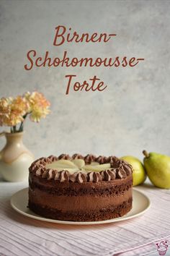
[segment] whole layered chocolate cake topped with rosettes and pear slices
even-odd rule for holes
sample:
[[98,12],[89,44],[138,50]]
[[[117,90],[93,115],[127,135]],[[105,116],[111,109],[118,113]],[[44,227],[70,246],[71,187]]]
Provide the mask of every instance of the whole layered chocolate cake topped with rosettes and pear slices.
[[62,154],[29,168],[28,207],[61,221],[104,221],[132,208],[132,166],[115,156]]

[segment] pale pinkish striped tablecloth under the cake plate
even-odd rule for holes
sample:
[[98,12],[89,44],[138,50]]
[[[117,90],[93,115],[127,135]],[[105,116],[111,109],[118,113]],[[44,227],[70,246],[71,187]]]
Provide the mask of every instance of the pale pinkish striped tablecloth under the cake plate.
[[27,218],[15,212],[10,197],[27,182],[0,180],[0,255],[156,256],[156,242],[166,239],[170,255],[170,190],[150,182],[136,187],[148,195],[151,208],[121,223],[69,226]]

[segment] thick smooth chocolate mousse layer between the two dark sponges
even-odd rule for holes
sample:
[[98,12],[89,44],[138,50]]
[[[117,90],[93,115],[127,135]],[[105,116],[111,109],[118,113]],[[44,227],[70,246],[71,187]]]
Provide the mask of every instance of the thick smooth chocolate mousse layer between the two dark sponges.
[[40,189],[30,189],[29,198],[32,203],[42,205],[42,207],[48,207],[58,209],[62,211],[79,211],[81,213],[86,212],[86,206],[88,210],[99,210],[101,208],[107,208],[109,206],[121,205],[123,202],[128,201],[132,197],[132,189],[128,189],[125,192],[120,192],[119,195],[104,195],[97,192],[96,195],[79,195],[79,196],[67,196],[67,195],[52,195]]

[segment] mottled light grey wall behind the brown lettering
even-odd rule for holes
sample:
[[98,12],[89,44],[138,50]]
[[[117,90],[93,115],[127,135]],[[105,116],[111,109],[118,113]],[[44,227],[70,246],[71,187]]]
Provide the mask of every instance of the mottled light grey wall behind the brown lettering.
[[[40,90],[51,114],[40,124],[27,120],[24,143],[36,157],[60,153],[170,155],[170,1],[1,1],[0,95]],[[117,33],[109,43],[53,46],[55,27],[79,33]],[[135,68],[37,68],[24,70],[26,54],[50,51],[73,57],[137,56]],[[96,74],[102,93],[65,95],[66,74],[86,80]],[[3,130],[3,128],[1,128]],[[4,139],[0,140],[0,147]]]

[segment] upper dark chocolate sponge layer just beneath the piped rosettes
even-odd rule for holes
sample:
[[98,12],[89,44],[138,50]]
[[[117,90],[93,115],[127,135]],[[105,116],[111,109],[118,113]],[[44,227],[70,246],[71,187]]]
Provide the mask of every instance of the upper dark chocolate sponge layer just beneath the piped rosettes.
[[42,179],[41,177],[30,175],[29,187],[31,189],[40,189],[53,195],[118,195],[122,191],[132,187],[132,176],[125,179],[115,179],[109,182],[58,182],[54,180]]

